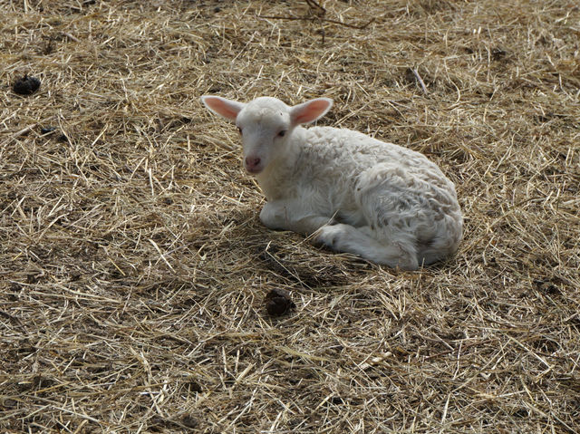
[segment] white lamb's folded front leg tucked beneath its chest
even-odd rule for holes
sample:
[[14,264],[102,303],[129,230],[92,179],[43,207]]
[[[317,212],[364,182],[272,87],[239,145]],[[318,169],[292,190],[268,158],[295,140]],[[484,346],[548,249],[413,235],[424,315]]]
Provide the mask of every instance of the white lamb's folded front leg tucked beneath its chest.
[[270,229],[291,230],[305,236],[333,223],[333,217],[316,215],[300,202],[288,200],[266,202],[260,212],[260,220]]

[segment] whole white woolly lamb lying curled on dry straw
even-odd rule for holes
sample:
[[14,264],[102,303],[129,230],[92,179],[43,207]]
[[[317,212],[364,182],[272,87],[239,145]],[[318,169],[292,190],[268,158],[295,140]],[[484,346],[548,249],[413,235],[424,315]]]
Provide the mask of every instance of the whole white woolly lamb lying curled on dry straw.
[[236,122],[244,167],[266,195],[266,227],[402,270],[457,250],[463,218],[453,183],[419,152],[353,130],[302,126],[324,116],[332,100],[201,101]]

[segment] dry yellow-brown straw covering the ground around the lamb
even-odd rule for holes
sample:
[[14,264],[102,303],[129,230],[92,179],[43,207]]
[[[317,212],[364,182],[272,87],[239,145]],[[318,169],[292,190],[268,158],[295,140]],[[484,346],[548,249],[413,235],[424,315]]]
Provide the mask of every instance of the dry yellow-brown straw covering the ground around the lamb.
[[[575,3],[3,1],[0,430],[580,431]],[[329,96],[322,123],[426,153],[459,254],[266,230],[204,93]]]

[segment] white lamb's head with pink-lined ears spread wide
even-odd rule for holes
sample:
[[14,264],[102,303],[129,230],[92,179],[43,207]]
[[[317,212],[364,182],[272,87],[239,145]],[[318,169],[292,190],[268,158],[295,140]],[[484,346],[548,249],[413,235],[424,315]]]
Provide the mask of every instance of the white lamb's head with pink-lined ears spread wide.
[[283,158],[295,127],[314,122],[333,105],[327,98],[306,101],[294,107],[270,97],[242,103],[218,96],[203,96],[210,111],[235,121],[244,143],[244,167],[257,175]]

